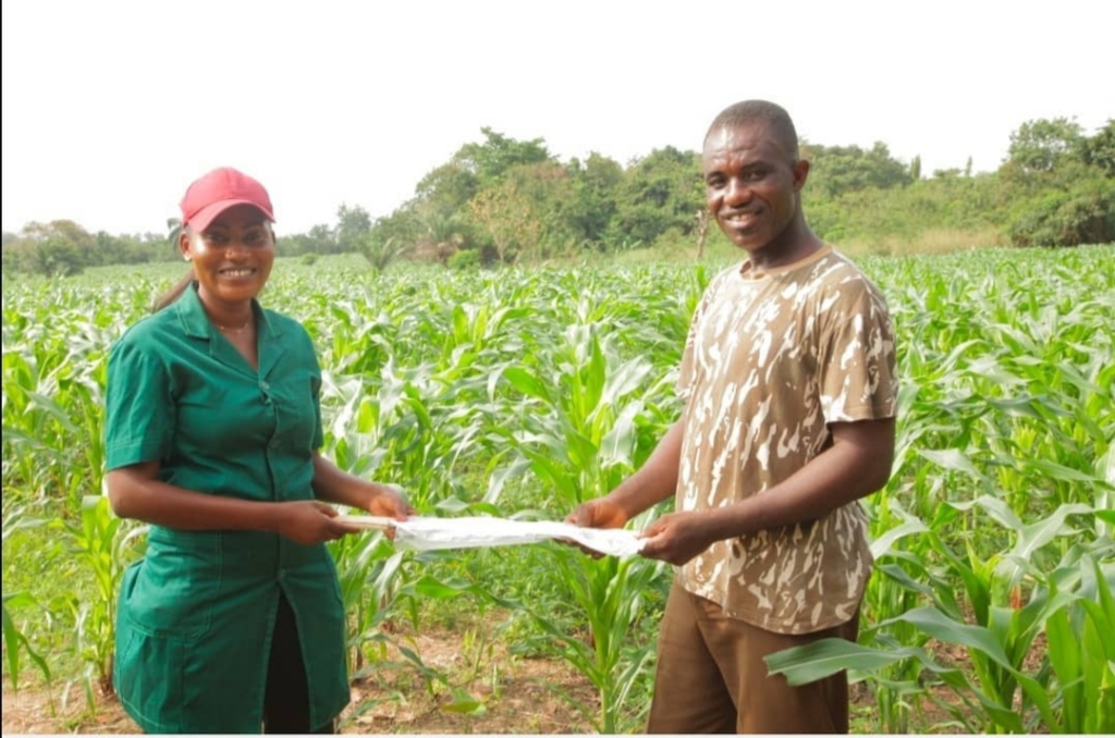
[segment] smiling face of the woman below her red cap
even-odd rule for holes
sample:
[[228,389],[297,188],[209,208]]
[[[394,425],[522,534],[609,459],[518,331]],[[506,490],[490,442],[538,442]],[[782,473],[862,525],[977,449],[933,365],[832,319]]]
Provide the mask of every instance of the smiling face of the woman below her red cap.
[[233,205],[202,233],[185,229],[178,247],[194,263],[202,301],[213,307],[251,301],[266,284],[275,259],[271,224],[252,205]]

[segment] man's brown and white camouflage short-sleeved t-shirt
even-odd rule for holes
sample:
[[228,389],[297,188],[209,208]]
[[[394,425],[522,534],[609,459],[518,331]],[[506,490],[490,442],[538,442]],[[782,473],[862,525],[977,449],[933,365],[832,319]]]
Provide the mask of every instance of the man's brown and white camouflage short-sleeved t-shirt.
[[[758,275],[749,262],[725,270],[694,317],[678,392],[677,509],[764,494],[832,445],[828,424],[894,416],[886,303],[831,246]],[[731,618],[808,633],[853,616],[871,564],[856,502],[812,523],[718,541],[678,576]]]

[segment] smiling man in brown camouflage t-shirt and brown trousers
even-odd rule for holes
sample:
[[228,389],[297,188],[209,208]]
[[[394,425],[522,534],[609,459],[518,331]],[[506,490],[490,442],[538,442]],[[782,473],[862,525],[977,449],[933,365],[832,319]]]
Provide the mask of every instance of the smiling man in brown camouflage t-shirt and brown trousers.
[[871,570],[856,502],[894,454],[894,340],[879,290],[806,223],[786,111],[749,100],[705,138],[708,207],[746,260],[702,297],[685,411],[647,464],[571,522],[621,526],[675,495],[642,555],[679,569],[648,732],[846,732],[841,673],[804,687],[764,657],[856,638]]

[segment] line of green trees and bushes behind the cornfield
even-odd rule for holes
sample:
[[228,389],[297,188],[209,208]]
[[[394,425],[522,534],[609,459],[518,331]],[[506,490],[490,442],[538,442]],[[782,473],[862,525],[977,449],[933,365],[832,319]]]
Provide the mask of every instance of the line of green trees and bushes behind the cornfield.
[[[482,128],[418,182],[392,213],[342,204],[336,222],[279,239],[280,255],[362,253],[374,269],[398,259],[449,266],[536,263],[702,240],[700,154],[672,146],[626,165],[600,154],[560,161],[545,140]],[[932,230],[989,231],[1019,246],[1115,241],[1115,119],[1088,135],[1067,118],[1010,135],[995,172],[921,171],[878,142],[870,148],[803,142],[812,163],[804,198],[823,239],[910,239]],[[177,259],[169,234],[90,234],[72,221],[3,234],[3,266],[48,275],[86,266]],[[710,231],[715,232],[715,229]],[[714,236],[715,237],[715,233]]]

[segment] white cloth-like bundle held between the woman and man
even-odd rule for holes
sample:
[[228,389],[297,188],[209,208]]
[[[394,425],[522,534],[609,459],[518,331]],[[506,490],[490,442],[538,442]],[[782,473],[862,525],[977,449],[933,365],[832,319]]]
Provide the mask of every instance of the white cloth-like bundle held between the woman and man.
[[358,527],[395,528],[395,544],[413,551],[438,548],[478,548],[551,538],[575,541],[610,556],[633,556],[642,548],[642,538],[623,528],[585,528],[553,521],[511,521],[502,517],[424,517],[405,521],[390,517],[349,515],[342,518]]

